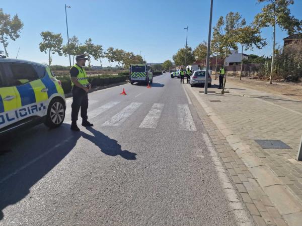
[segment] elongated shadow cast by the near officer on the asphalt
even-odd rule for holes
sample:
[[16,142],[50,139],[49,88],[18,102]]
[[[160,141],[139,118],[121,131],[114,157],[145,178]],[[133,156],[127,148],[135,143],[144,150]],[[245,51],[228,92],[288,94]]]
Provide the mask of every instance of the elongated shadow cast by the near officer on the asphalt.
[[82,137],[93,142],[104,154],[110,156],[120,155],[127,160],[136,160],[136,154],[127,150],[121,150],[121,146],[116,140],[110,139],[108,136],[102,134],[100,131],[97,131],[92,127],[88,127],[87,130],[90,131],[93,136],[82,132]]

